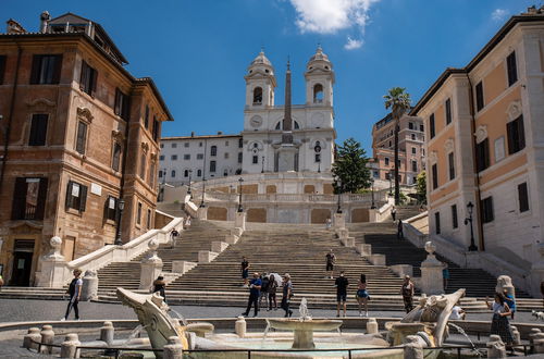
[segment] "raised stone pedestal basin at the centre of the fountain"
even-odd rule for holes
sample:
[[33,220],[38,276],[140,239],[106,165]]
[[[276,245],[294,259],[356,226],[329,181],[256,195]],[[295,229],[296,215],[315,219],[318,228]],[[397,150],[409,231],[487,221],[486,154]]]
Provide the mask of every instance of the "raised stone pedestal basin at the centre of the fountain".
[[270,327],[276,330],[293,331],[294,349],[313,349],[313,332],[336,331],[342,325],[341,320],[296,320],[296,319],[267,319]]

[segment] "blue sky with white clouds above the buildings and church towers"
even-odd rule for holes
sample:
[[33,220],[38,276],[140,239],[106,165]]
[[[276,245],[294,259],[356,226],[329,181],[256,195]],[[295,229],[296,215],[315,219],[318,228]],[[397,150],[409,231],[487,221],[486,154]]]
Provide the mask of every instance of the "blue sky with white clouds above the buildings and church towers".
[[463,66],[511,16],[535,0],[162,0],[8,1],[0,20],[37,30],[39,14],[73,12],[100,23],[135,76],[151,76],[174,119],[163,136],[243,128],[244,74],[264,47],[276,71],[276,104],[290,57],[293,102],[320,42],[334,64],[337,141],[370,156],[382,96],[406,87],[413,103],[447,66]]

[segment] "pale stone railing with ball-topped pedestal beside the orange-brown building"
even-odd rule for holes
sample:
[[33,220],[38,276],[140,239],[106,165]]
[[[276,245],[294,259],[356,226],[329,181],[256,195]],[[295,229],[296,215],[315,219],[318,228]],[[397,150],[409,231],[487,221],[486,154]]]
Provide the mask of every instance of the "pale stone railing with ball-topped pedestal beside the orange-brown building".
[[169,234],[175,228],[183,231],[183,219],[175,218],[160,230],[151,230],[141,236],[122,245],[107,245],[84,257],[66,262],[60,253],[62,239],[52,237],[50,240],[51,251],[41,258],[41,271],[37,275],[39,287],[62,287],[72,277],[72,271],[79,269],[85,271],[97,271],[112,262],[127,262],[149,249],[148,244],[154,239],[159,244],[170,240]]

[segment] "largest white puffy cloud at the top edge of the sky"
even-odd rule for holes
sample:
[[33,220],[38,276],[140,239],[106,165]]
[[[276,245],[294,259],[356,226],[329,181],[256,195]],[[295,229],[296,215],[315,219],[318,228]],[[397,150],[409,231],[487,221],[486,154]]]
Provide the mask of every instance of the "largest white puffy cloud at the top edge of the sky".
[[380,0],[289,1],[298,15],[295,23],[302,33],[334,34],[353,26],[363,33],[370,7]]

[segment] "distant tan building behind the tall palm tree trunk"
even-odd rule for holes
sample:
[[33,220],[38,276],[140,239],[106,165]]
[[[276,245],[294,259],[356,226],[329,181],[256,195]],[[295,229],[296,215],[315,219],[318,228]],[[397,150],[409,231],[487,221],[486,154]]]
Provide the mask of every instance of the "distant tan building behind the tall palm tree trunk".
[[[390,114],[372,126],[372,157],[375,180],[392,181],[395,171],[395,122]],[[398,175],[403,185],[416,184],[416,177],[425,169],[423,120],[408,114],[400,117],[398,132]]]

